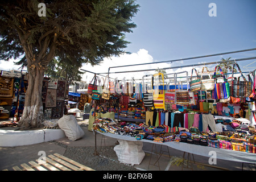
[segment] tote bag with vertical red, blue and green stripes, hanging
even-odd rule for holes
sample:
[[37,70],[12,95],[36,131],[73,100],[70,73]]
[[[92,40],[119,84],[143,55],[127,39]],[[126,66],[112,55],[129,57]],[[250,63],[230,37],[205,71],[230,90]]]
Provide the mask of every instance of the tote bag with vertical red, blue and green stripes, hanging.
[[[224,78],[224,82],[217,83],[217,79],[216,79],[216,70],[217,70],[217,68],[220,69],[221,75]],[[213,78],[215,80],[215,84],[214,84],[214,90],[212,92],[212,98],[213,99],[228,99],[230,97],[229,82],[225,78],[225,76],[224,76],[224,74],[221,70],[221,67],[219,65],[217,65],[215,67]]]

